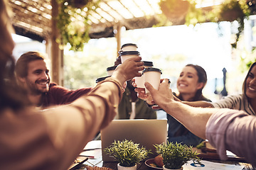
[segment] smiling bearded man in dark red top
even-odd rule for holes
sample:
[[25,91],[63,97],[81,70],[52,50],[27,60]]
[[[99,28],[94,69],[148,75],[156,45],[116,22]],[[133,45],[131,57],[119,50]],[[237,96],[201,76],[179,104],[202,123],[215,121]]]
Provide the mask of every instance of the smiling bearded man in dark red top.
[[45,60],[46,57],[41,52],[26,52],[16,62],[18,84],[27,91],[28,99],[33,106],[46,108],[68,104],[92,89],[70,90],[50,83],[49,69]]

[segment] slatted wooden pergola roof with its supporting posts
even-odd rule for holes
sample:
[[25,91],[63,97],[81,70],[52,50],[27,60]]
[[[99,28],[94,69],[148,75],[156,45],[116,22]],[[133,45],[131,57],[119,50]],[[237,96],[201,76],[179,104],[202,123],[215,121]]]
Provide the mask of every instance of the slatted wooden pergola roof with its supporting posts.
[[[120,48],[120,30],[151,28],[159,22],[160,0],[102,0],[90,16],[90,38],[117,38]],[[198,0],[198,8],[220,4],[224,0]],[[14,11],[13,26],[18,35],[34,40],[46,40],[46,52],[52,63],[52,79],[63,84],[63,52],[55,41],[58,37],[55,18],[58,16],[57,0],[9,0]],[[174,23],[175,25],[182,23]],[[114,30],[115,34],[114,34]],[[53,67],[54,66],[54,67]]]

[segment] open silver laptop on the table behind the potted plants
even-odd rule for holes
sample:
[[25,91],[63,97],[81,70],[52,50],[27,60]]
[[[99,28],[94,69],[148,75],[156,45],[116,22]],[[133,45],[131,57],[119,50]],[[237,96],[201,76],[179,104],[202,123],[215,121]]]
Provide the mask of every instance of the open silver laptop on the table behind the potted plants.
[[110,155],[105,154],[104,149],[112,145],[114,140],[132,140],[139,147],[151,149],[153,154],[149,158],[156,157],[155,144],[166,143],[167,120],[112,120],[110,125],[100,131],[102,141],[102,160],[114,162]]

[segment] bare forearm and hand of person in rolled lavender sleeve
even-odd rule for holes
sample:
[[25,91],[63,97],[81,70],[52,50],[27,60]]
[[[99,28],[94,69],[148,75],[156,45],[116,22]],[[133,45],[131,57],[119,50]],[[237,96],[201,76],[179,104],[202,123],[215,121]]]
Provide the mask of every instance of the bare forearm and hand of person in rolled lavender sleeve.
[[162,81],[159,90],[154,89],[148,82],[145,83],[145,86],[149,89],[154,103],[185,125],[195,135],[206,139],[206,123],[215,109],[194,108],[175,101],[169,90],[168,79]]

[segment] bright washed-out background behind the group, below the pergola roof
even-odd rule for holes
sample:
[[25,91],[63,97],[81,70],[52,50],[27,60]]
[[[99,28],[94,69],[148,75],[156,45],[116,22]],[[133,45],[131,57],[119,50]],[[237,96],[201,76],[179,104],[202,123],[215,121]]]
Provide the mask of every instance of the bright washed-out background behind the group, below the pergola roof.
[[[203,94],[217,101],[224,88],[228,94],[242,92],[242,82],[247,74],[245,64],[256,60],[256,16],[245,19],[244,30],[237,47],[231,44],[237,33],[238,22],[206,22],[193,25],[161,26],[127,30],[121,28],[121,45],[135,43],[142,60],[151,61],[162,70],[161,78],[171,80],[171,88],[177,92],[176,79],[186,64],[198,64],[206,69],[208,82]],[[115,32],[116,30],[113,30]],[[16,59],[24,52],[46,52],[46,41],[39,42],[21,35],[13,35]],[[253,53],[254,52],[254,53]],[[95,86],[95,80],[107,76],[106,69],[117,58],[117,39],[93,38],[84,44],[82,51],[63,47],[63,86],[78,89]],[[224,72],[223,70],[226,70]]]

